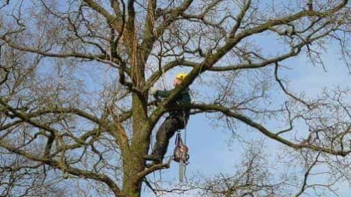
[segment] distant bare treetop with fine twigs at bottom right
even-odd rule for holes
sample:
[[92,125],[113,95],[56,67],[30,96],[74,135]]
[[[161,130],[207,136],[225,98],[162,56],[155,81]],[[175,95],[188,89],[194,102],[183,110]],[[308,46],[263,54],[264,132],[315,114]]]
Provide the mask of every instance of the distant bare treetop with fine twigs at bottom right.
[[[162,184],[147,179],[155,196],[338,196],[343,174],[331,172],[322,152],[301,150],[272,161],[264,141],[246,143],[234,173],[195,174],[187,183]],[[285,159],[284,159],[285,158]],[[282,167],[284,166],[284,167]]]

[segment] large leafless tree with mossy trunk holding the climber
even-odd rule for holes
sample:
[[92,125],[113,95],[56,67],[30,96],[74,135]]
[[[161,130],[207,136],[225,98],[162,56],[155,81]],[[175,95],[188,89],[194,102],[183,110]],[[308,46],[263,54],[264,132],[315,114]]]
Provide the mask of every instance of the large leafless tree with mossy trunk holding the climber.
[[[350,91],[326,90],[310,98],[289,91],[279,76],[284,61],[295,56],[328,67],[321,59],[328,41],[339,43],[349,66],[347,0],[1,3],[0,147],[25,161],[19,169],[30,168],[37,176],[58,171],[91,185],[100,196],[140,196],[145,177],[169,167],[145,167],[153,128],[168,111],[184,107],[209,113],[236,133],[235,126],[250,126],[295,152],[337,159],[351,152],[345,102]],[[277,50],[270,53],[270,46],[257,42],[268,37],[277,40]],[[154,106],[150,87],[179,68],[189,75]],[[169,106],[190,85],[215,91],[195,92],[188,106]],[[272,119],[286,128],[264,126]],[[306,131],[298,132],[298,124]],[[256,169],[246,167],[238,174]],[[262,173],[243,177],[256,184],[249,189],[264,183]],[[305,192],[309,185],[302,185]],[[270,187],[260,188],[268,192]],[[213,191],[235,196],[238,190]]]

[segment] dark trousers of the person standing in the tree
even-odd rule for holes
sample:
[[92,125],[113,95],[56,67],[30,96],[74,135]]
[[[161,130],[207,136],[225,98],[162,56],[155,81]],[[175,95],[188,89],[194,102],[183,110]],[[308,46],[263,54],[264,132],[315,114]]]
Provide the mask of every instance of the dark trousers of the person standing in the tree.
[[164,154],[167,152],[169,139],[175,131],[184,128],[184,126],[184,122],[177,117],[167,117],[157,131],[156,144],[153,147],[152,154],[162,161]]

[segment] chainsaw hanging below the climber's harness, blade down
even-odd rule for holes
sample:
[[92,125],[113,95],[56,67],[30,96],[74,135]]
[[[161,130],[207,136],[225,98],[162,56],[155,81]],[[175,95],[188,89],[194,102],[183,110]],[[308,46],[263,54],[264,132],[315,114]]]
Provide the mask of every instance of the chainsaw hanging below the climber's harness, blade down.
[[189,164],[189,148],[183,143],[180,131],[178,130],[175,137],[175,148],[173,150],[173,160],[179,163],[179,181],[183,182],[185,177],[185,168]]

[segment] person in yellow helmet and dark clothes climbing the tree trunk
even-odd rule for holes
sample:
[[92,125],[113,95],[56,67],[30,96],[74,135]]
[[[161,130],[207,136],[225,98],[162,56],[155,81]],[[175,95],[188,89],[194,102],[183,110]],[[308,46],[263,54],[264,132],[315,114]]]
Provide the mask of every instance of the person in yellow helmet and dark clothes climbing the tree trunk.
[[[173,86],[176,88],[181,83],[182,80],[187,76],[187,73],[178,73],[173,80]],[[172,90],[160,91],[156,89],[150,89],[151,95],[155,97],[168,97]],[[169,106],[176,106],[181,104],[190,104],[191,97],[189,93],[189,88],[185,89],[179,93],[169,104]],[[154,163],[161,163],[164,157],[164,154],[167,152],[167,147],[169,144],[169,139],[174,135],[175,131],[185,128],[189,120],[190,109],[183,108],[178,111],[170,111],[169,116],[163,121],[162,125],[158,129],[156,134],[156,143],[153,147],[151,154],[145,155],[146,160],[153,161]]]

